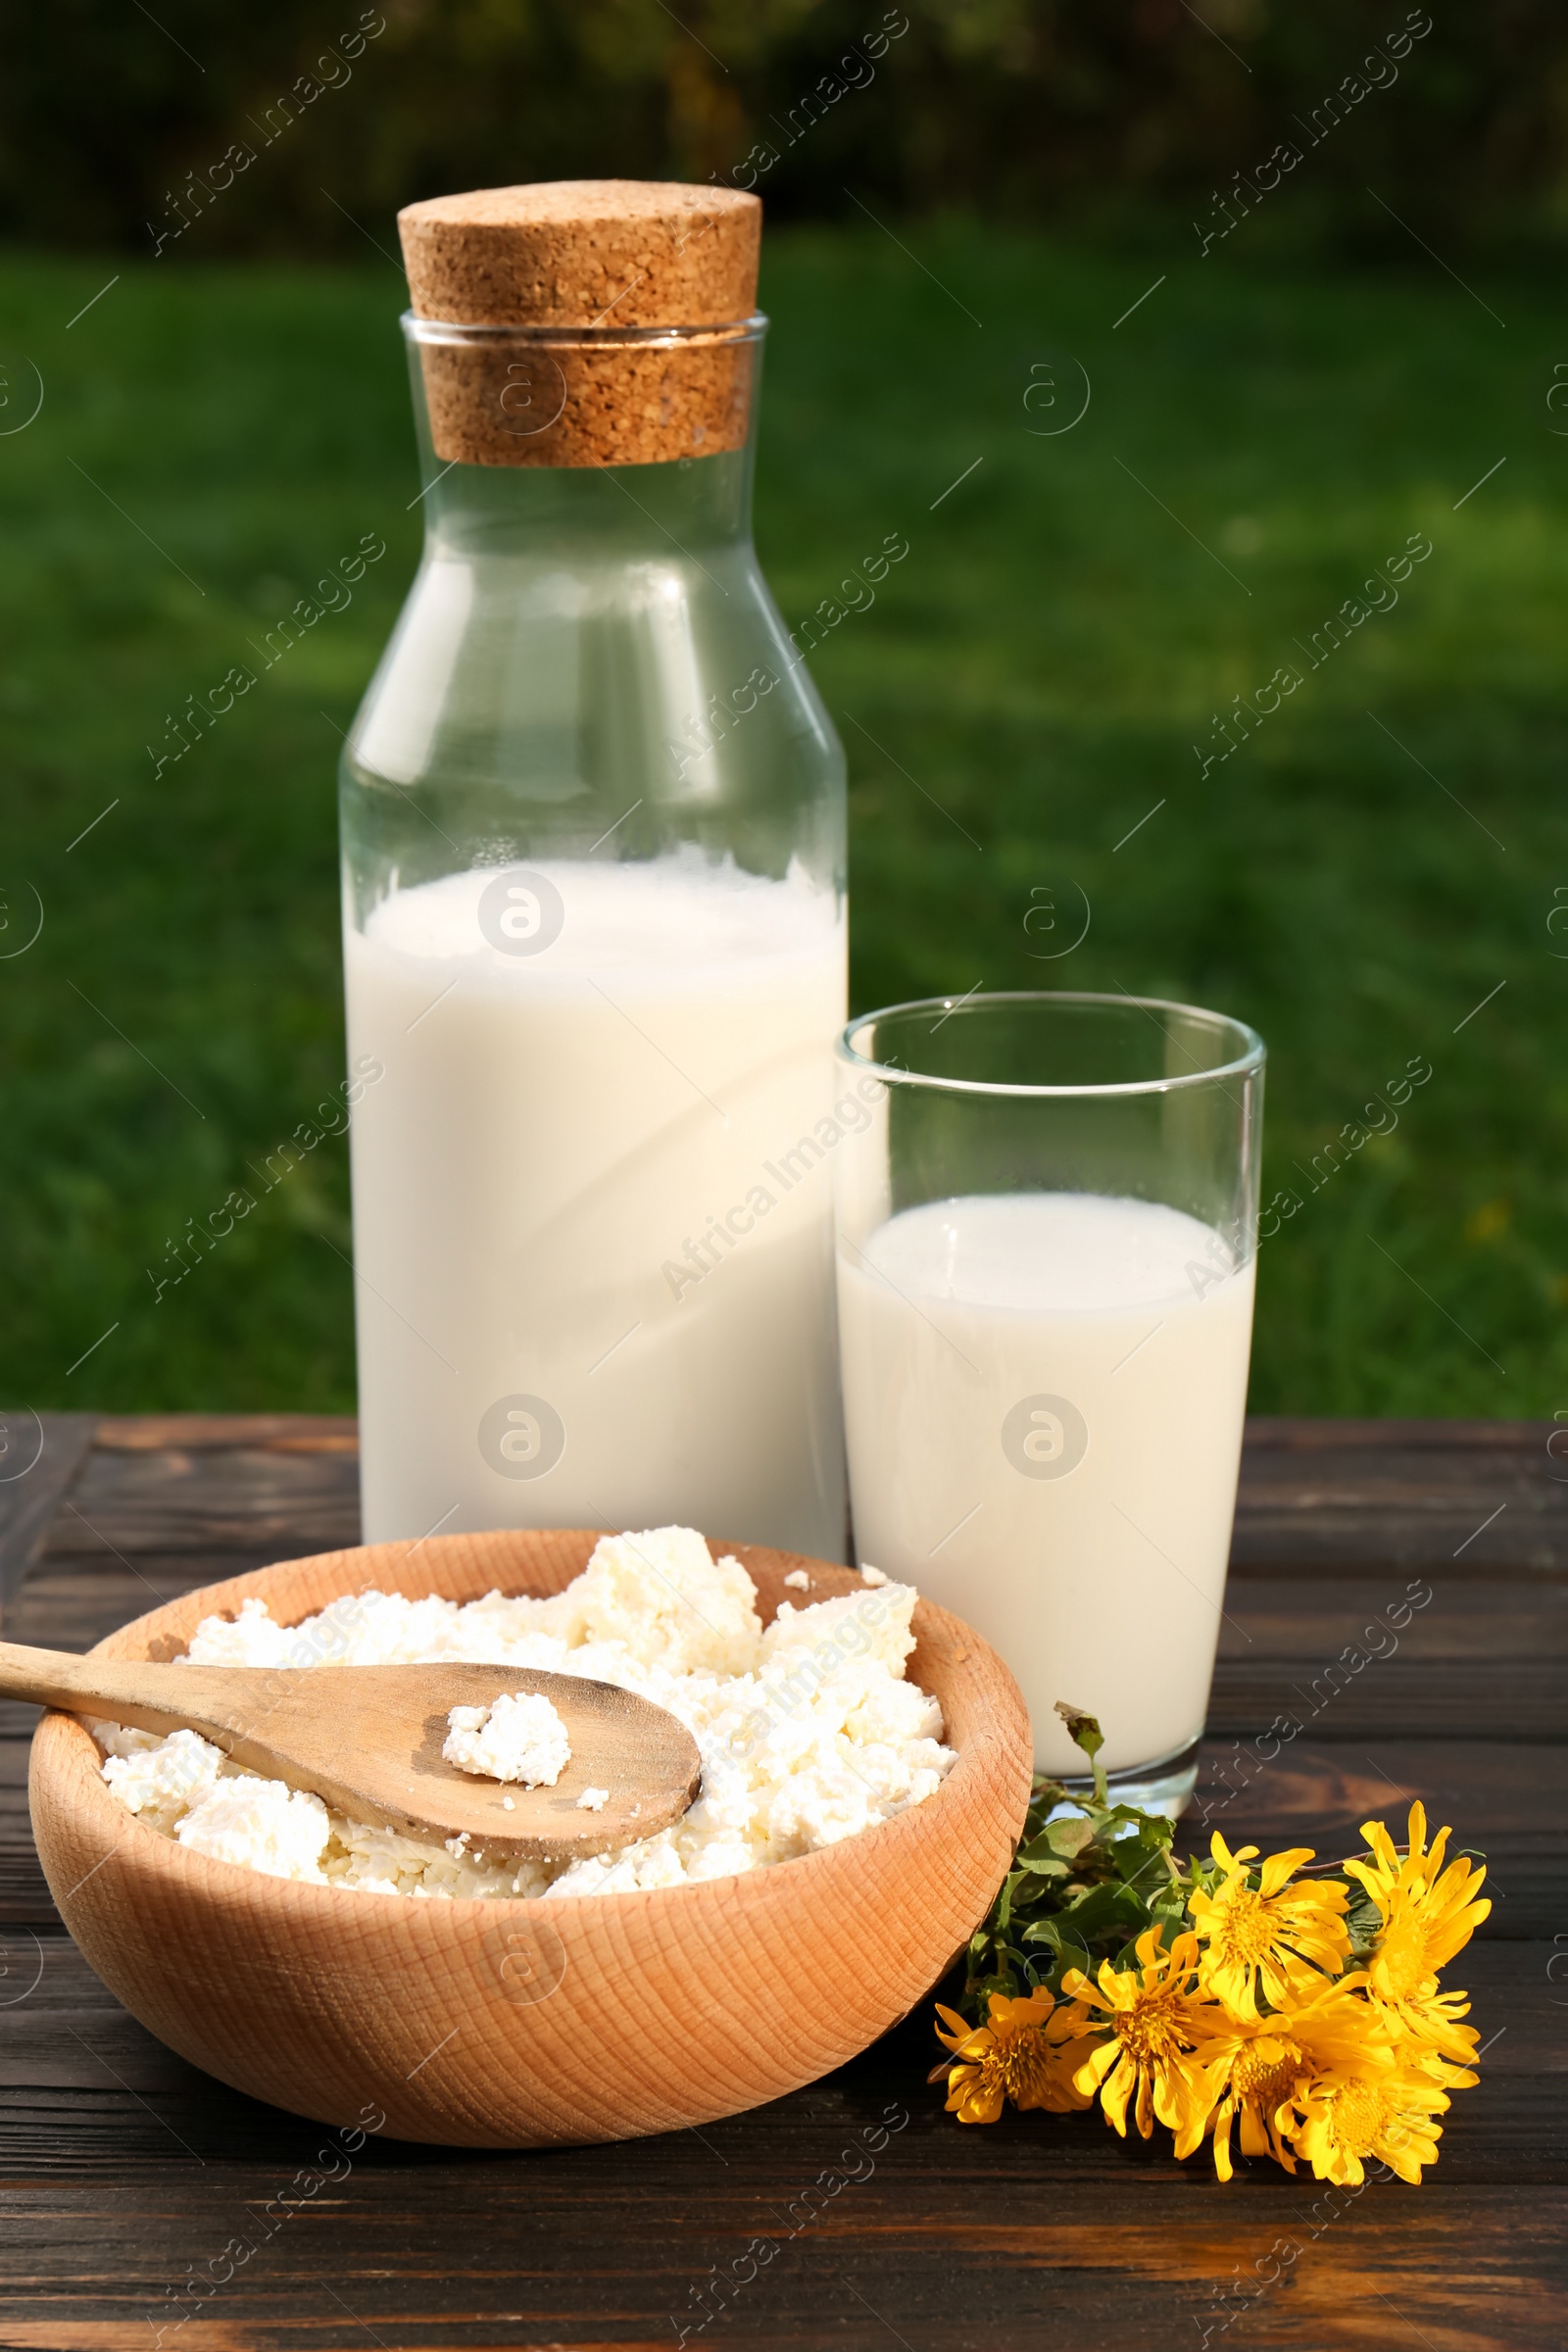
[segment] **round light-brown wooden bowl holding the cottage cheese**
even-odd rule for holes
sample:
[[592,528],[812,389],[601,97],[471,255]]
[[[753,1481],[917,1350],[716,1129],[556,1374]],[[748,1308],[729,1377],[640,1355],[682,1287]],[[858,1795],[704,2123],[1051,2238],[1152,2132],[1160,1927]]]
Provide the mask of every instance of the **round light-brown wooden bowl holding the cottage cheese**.
[[[174,1658],[249,1595],[292,1625],[376,1585],[454,1602],[559,1592],[597,1534],[376,1543],[233,1576],[99,1642]],[[722,1545],[762,1618],[790,1569],[811,1597],[849,1569]],[[322,2124],[454,2147],[625,2140],[795,2091],[886,2032],[983,1919],[1023,1828],[1032,1745],[1018,1684],[959,1618],[919,1602],[907,1672],[957,1748],[907,1813],[743,1877],[562,1903],[409,1900],[301,1886],[190,1853],[127,1813],[73,1715],[33,1740],[33,1832],[89,1964],[219,2082]]]

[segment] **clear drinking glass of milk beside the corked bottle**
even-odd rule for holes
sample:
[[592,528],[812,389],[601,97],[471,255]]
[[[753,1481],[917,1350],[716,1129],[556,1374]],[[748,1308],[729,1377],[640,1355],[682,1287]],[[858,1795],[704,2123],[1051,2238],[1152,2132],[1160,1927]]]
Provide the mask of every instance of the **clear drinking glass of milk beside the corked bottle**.
[[1011,1665],[1034,1762],[1100,1717],[1128,1802],[1197,1778],[1253,1329],[1262,1042],[1190,1004],[898,1004],[839,1042],[856,1552]]

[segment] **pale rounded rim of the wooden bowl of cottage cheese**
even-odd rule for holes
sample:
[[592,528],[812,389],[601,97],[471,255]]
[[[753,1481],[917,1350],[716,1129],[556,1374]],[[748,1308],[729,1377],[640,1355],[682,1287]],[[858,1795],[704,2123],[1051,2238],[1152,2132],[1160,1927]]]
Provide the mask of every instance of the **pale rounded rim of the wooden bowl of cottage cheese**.
[[[592,1545],[604,1534],[607,1529],[494,1529],[494,1531],[487,1529],[482,1531],[482,1536],[473,1531],[451,1536],[428,1536],[418,1548],[425,1550],[430,1559],[442,1559],[449,1552],[456,1552],[489,1536],[524,1536],[524,1538],[557,1536],[557,1538],[581,1538],[592,1550]],[[816,1559],[809,1552],[785,1552],[776,1545],[759,1545],[759,1543],[731,1543],[729,1538],[717,1538],[717,1536],[705,1536],[703,1541],[717,1557],[726,1555],[738,1557],[743,1566],[748,1566],[748,1555],[764,1555],[776,1562],[788,1562],[788,1566],[804,1566],[809,1571],[820,1569],[827,1571],[830,1576],[839,1576],[846,1581],[844,1583],[846,1592],[867,1590],[860,1583],[856,1569],[846,1569],[839,1562],[830,1559]],[[409,1557],[411,1552],[411,1548],[407,1545],[346,1545],[334,1552],[306,1552],[299,1555],[296,1559],[266,1562],[266,1566],[261,1569],[244,1569],[237,1576],[221,1578],[214,1585],[195,1585],[190,1592],[181,1592],[169,1602],[160,1602],[158,1609],[148,1609],[139,1618],[129,1618],[125,1625],[113,1628],[113,1632],[103,1635],[99,1642],[92,1644],[87,1656],[115,1653],[118,1644],[122,1644],[127,1637],[139,1635],[139,1630],[150,1625],[153,1621],[162,1618],[165,1611],[176,1611],[176,1609],[188,1611],[195,1602],[207,1604],[219,1599],[221,1595],[230,1595],[233,1588],[244,1585],[249,1588],[247,1592],[240,1592],[235,1595],[233,1602],[221,1604],[237,1616],[240,1599],[249,1599],[256,1581],[268,1578],[275,1571],[306,1569],[315,1566],[317,1562],[324,1564],[324,1562],[364,1559],[371,1552],[381,1552],[386,1557],[395,1550],[404,1550],[404,1557]],[[748,1566],[748,1576],[750,1573],[752,1571]],[[900,1578],[889,1578],[889,1581],[898,1583]],[[381,1588],[371,1578],[360,1578],[357,1583],[346,1581],[339,1585],[339,1592],[334,1597],[343,1597],[355,1590],[369,1592]],[[496,1590],[508,1590],[508,1588],[496,1585]],[[435,1592],[437,1588],[428,1588],[425,1597]],[[527,1595],[529,1585],[512,1585],[510,1592]],[[266,1592],[259,1597],[266,1597]],[[449,1599],[451,1595],[440,1592],[440,1597]],[[475,1599],[477,1597],[480,1595],[475,1595]],[[832,1599],[837,1597],[837,1592],[827,1592],[825,1597]],[[289,1623],[294,1625],[306,1623],[306,1618],[320,1616],[320,1609],[324,1606],[329,1604],[322,1602],[317,1609],[308,1609],[301,1616],[289,1618]],[[776,1611],[778,1604],[773,1604],[773,1613]],[[216,1611],[212,1606],[205,1606],[202,1613],[212,1616]],[[764,1625],[771,1621],[773,1616],[766,1616]],[[919,1590],[914,1597],[912,1630],[917,1637],[917,1646],[910,1653],[907,1663],[912,1663],[919,1656],[919,1649],[926,1642],[931,1639],[945,1642],[950,1663],[957,1665],[959,1672],[973,1668],[976,1663],[990,1663],[992,1670],[999,1672],[1006,1679],[1006,1684],[1013,1686],[1013,1691],[1018,1691],[1009,1668],[1004,1665],[999,1653],[990,1646],[990,1642],[985,1642],[983,1635],[978,1635],[973,1625],[969,1625],[964,1618],[957,1618],[952,1616],[952,1611],[940,1609],[936,1602],[929,1602]],[[1027,1733],[1027,1712],[1023,1708],[1020,1693],[1018,1693],[1018,1715]],[[684,1879],[677,1886],[635,1886],[621,1893],[590,1893],[590,1896],[562,1896],[562,1898],[550,1898],[548,1893],[545,1896],[435,1896],[425,1900],[402,1893],[378,1896],[371,1889],[362,1886],[341,1886],[336,1882],[327,1882],[322,1886],[310,1879],[284,1879],[266,1870],[252,1870],[247,1863],[226,1863],[209,1853],[195,1853],[190,1846],[181,1846],[176,1837],[165,1837],[162,1830],[155,1830],[150,1823],[141,1820],[139,1813],[132,1813],[125,1804],[120,1804],[110,1785],[103,1780],[101,1771],[103,1752],[99,1750],[99,1743],[87,1729],[87,1722],[82,1719],[82,1715],[66,1712],[59,1708],[52,1708],[40,1717],[33,1738],[31,1773],[33,1771],[47,1773],[59,1795],[68,1795],[80,1776],[82,1804],[92,1809],[87,1820],[99,1818],[106,1828],[110,1825],[120,1828],[120,1837],[113,1839],[110,1853],[118,1851],[129,1837],[136,1858],[143,1867],[172,1875],[174,1879],[183,1882],[190,1889],[190,1893],[197,1896],[197,1900],[209,1900],[221,1905],[226,1898],[240,1896],[240,1891],[244,1891],[244,1896],[252,1903],[280,1903],[296,1917],[315,1919],[320,1924],[336,1919],[343,1926],[348,1926],[350,1919],[362,1924],[369,1924],[374,1919],[393,1926],[393,1919],[386,1919],[386,1915],[378,1912],[367,1912],[364,1907],[367,1903],[381,1903],[390,1905],[393,1917],[404,1919],[409,1931],[421,1938],[425,1936],[440,1938],[444,1931],[444,1922],[449,1922],[449,1926],[456,1931],[470,1926],[475,1919],[496,1919],[501,1915],[505,1917],[522,1915],[534,1922],[543,1919],[545,1924],[550,1924],[555,1933],[562,1933],[567,1922],[576,1922],[581,1933],[592,1933],[595,1924],[604,1919],[630,1919],[637,1915],[642,1905],[656,1905],[654,1917],[658,1917],[661,1912],[668,1915],[670,1905],[675,1903],[684,1903],[689,1910],[691,1907],[701,1910],[712,1905],[715,1900],[741,1900],[741,1903],[766,1900],[766,1898],[783,1900],[788,1898],[790,1886],[799,1884],[799,1875],[804,1870],[813,1870],[816,1875],[820,1875],[823,1870],[842,1867],[839,1856],[844,1856],[846,1851],[865,1853],[870,1839],[879,1839],[879,1851],[886,1849],[886,1844],[893,1839],[905,1842],[914,1837],[924,1842],[933,1832],[933,1825],[938,1820],[938,1809],[943,1806],[943,1797],[947,1797],[950,1790],[954,1792],[954,1797],[959,1797],[959,1792],[966,1795],[971,1780],[985,1771],[980,1750],[990,1748],[1001,1738],[1004,1738],[1001,1719],[997,1719],[990,1726],[985,1722],[973,1726],[969,1738],[957,1748],[957,1764],[943,1776],[943,1780],[929,1797],[924,1797],[919,1804],[905,1806],[889,1820],[872,1823],[867,1830],[858,1830],[851,1837],[835,1839],[827,1846],[813,1846],[809,1853],[792,1853],[780,1863],[759,1863],[752,1870],[724,1872],[710,1879]],[[950,1745],[947,1710],[943,1710],[943,1745]],[[1034,1764],[1030,1757],[1030,1773],[1032,1769]],[[785,1872],[790,1872],[790,1877],[783,1877]],[[85,1882],[78,1882],[78,1886],[80,1884]],[[66,1898],[56,1898],[61,1903],[61,1915],[63,1915],[63,1903],[71,1900],[71,1896],[75,1893],[78,1889],[73,1886]],[[548,1912],[541,1910],[541,1905],[545,1903],[552,1905]],[[343,1910],[343,1905],[350,1907]]]

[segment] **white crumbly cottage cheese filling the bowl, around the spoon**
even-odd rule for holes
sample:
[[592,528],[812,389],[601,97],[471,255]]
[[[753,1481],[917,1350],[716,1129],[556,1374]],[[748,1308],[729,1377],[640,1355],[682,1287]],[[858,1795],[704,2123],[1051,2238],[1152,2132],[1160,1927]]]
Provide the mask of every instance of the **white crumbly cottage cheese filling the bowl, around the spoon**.
[[[651,1698],[703,1757],[696,1804],[668,1830],[576,1863],[491,1860],[374,1830],[230,1764],[195,1731],[158,1738],[94,1724],[103,1778],[127,1811],[195,1853],[273,1877],[386,1896],[552,1898],[733,1877],[856,1837],[931,1797],[957,1762],[943,1710],[905,1682],[914,1590],[863,1585],[764,1630],[738,1559],[712,1559],[691,1529],[604,1536],[550,1599],[480,1602],[360,1592],[303,1625],[266,1602],[202,1618],[195,1665],[292,1665],[301,1646],[334,1665],[482,1665],[588,1675]],[[456,1851],[454,1851],[456,1846]]]

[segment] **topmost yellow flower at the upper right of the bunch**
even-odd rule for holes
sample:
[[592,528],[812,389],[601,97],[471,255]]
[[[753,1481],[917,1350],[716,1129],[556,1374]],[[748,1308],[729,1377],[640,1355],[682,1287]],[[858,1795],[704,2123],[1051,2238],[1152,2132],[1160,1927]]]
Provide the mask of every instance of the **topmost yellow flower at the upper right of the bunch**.
[[1345,1867],[1361,1879],[1382,1915],[1382,1931],[1366,1966],[1371,1987],[1418,2039],[1450,2058],[1467,2058],[1474,2030],[1453,2025],[1453,2004],[1462,1994],[1436,1999],[1436,1971],[1469,1943],[1490,1912],[1490,1903],[1476,1903],[1486,1867],[1458,1860],[1443,1870],[1448,1830],[1439,1830],[1427,1849],[1427,1813],[1420,1804],[1410,1806],[1410,1844],[1403,1860],[1380,1820],[1363,1820],[1361,1837],[1373,1858]]

